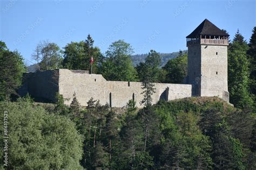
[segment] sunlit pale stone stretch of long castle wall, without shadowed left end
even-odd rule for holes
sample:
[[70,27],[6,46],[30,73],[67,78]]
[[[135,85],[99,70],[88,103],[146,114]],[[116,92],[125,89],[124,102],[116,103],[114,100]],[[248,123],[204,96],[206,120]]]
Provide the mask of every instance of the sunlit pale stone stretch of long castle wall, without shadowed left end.
[[[191,84],[167,84],[155,83],[156,93],[153,94],[153,104],[160,98],[163,100],[174,100],[176,98],[191,97]],[[65,104],[70,104],[73,94],[76,93],[77,100],[81,105],[93,97],[99,100],[100,104],[111,104],[111,107],[122,108],[129,100],[134,98],[137,107],[141,108],[140,101],[141,82],[106,81],[99,74],[73,73],[68,69],[59,69],[59,93],[67,100]]]

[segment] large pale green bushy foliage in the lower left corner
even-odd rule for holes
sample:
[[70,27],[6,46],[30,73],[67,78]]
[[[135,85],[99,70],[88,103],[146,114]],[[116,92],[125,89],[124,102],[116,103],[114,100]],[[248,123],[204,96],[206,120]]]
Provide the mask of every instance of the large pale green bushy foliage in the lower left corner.
[[[8,169],[81,168],[82,136],[68,118],[49,114],[26,98],[1,102],[0,111],[8,111]],[[3,126],[0,129],[3,141]]]

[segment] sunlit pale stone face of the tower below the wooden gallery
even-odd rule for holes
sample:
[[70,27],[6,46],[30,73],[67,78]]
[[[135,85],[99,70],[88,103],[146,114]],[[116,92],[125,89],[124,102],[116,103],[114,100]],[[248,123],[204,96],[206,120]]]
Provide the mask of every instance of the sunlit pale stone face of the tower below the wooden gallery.
[[201,96],[226,99],[227,91],[227,46],[201,45]]

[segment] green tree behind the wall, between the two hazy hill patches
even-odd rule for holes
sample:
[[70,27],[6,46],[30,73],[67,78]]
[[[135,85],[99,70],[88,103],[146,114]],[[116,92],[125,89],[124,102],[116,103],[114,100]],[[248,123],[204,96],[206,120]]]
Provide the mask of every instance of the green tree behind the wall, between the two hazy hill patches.
[[160,55],[151,49],[149,54],[146,57],[146,61],[140,62],[139,65],[136,67],[139,80],[144,81],[147,75],[151,75],[152,82],[160,82],[161,77],[161,58]]

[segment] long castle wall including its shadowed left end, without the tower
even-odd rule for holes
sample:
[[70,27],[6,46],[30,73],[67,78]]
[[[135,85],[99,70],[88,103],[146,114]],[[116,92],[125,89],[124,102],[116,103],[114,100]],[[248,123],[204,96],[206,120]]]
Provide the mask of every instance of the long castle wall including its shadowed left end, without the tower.
[[[169,101],[192,96],[191,84],[154,83],[154,88],[153,104],[160,99]],[[66,99],[65,104],[70,104],[76,93],[83,106],[93,97],[100,104],[108,103],[111,107],[123,108],[129,100],[136,101],[138,108],[143,107],[140,105],[143,100],[141,82],[106,81],[100,74],[69,69],[24,73],[20,94],[29,93],[38,100],[53,102],[57,92]]]

